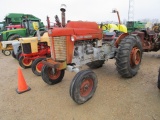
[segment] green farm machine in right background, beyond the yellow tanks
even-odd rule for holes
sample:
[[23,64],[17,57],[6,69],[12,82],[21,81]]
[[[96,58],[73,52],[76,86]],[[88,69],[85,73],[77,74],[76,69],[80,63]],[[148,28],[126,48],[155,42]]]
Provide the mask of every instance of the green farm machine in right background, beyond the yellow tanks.
[[135,30],[145,29],[146,23],[140,21],[127,21],[127,30],[128,32],[133,32]]

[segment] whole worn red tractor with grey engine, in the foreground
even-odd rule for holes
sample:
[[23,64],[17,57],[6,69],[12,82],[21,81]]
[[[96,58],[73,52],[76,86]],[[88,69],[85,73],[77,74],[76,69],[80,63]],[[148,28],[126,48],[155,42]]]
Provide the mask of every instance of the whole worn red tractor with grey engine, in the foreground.
[[[141,58],[142,45],[139,37],[115,33],[103,36],[95,22],[69,21],[65,24],[65,8],[62,11],[64,28],[49,29],[51,40],[51,58],[43,60],[42,79],[49,85],[62,81],[65,70],[76,72],[70,85],[70,96],[77,103],[89,100],[96,91],[97,76],[91,70],[82,70],[83,65],[89,68],[102,67],[110,58],[116,59],[118,73],[125,78],[137,74]],[[48,28],[49,27],[49,19]]]

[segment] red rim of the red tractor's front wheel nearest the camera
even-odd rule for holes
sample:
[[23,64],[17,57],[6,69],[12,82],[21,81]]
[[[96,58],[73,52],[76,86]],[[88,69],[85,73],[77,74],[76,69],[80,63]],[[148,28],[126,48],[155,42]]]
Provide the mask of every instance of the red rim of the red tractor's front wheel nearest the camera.
[[80,95],[82,97],[86,97],[91,93],[92,89],[93,89],[93,80],[87,78],[82,82],[80,86]]

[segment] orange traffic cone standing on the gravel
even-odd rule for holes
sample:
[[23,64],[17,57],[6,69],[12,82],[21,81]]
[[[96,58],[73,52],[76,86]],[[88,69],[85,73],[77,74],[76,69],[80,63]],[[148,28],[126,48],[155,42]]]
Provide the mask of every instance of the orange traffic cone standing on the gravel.
[[18,67],[18,88],[16,89],[16,91],[18,94],[20,94],[29,90],[31,90],[31,88],[27,86],[22,74],[22,70],[20,67]]

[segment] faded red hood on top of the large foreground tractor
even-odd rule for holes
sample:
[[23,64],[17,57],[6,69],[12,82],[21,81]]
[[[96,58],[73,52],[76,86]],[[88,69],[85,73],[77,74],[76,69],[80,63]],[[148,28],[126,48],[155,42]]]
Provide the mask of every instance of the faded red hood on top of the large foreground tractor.
[[98,38],[101,38],[102,33],[102,30],[98,28],[98,24],[95,22],[72,21],[69,22],[65,28],[52,29],[52,31],[49,32],[49,36],[98,35]]

